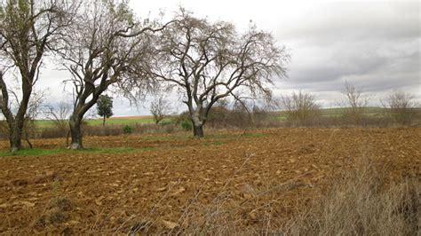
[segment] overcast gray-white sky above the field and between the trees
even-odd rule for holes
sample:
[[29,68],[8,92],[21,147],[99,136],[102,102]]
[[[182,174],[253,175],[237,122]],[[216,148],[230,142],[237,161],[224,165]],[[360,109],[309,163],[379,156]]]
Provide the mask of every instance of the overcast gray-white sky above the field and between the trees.
[[[180,4],[196,16],[231,21],[239,30],[252,20],[272,32],[291,54],[289,77],[274,85],[277,96],[304,90],[322,106],[336,106],[343,100],[340,91],[347,80],[375,96],[374,106],[393,89],[408,91],[421,101],[418,1],[131,1],[141,18],[160,11],[171,17]],[[49,88],[48,103],[65,99],[60,81],[68,76],[53,67],[44,70],[37,87]],[[115,115],[148,113],[147,108],[115,99]]]

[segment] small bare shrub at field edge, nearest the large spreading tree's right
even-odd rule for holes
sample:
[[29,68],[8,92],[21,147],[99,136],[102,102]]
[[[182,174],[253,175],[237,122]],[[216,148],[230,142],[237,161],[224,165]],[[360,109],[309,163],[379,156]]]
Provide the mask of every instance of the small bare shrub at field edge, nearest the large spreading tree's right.
[[283,96],[280,100],[280,106],[287,115],[287,120],[300,125],[314,119],[319,114],[320,106],[315,103],[314,96],[302,92],[292,92],[290,96]]

